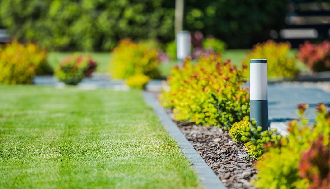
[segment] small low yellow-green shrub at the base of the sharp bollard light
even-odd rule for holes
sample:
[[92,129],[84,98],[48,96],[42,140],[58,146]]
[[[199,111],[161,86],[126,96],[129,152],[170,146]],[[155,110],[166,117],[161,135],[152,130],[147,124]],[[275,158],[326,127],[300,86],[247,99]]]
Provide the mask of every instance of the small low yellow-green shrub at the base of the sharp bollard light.
[[262,131],[262,127],[256,126],[255,121],[249,122],[248,116],[240,122],[233,123],[229,134],[234,141],[243,143],[248,154],[254,159],[260,159],[265,148],[280,146],[282,140],[282,136],[276,134],[276,129]]

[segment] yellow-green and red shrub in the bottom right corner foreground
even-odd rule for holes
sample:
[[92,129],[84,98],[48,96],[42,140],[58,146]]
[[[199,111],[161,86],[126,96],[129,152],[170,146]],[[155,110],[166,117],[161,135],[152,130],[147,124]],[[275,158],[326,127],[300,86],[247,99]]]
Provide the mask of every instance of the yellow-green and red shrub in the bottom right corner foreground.
[[[315,123],[308,125],[304,117],[308,105],[300,104],[298,108],[300,119],[290,122],[289,135],[281,140],[281,146],[268,148],[257,162],[256,187],[322,188],[324,183],[329,183],[329,177],[322,171],[323,168],[329,169],[329,159],[325,160],[329,156],[320,155],[326,150],[322,146],[329,146],[330,112],[323,103],[319,104]],[[322,145],[316,144],[320,142],[320,134],[324,136]],[[309,153],[313,144],[314,155]],[[312,180],[311,173],[315,174]]]

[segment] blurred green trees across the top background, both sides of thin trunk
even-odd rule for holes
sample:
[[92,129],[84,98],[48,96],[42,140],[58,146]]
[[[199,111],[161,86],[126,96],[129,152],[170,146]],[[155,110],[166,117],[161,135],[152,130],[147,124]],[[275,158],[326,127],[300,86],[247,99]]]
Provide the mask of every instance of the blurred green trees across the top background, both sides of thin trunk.
[[[183,29],[252,47],[282,25],[286,0],[185,0]],[[175,0],[0,0],[0,19],[22,42],[49,50],[108,51],[126,37],[174,40]]]

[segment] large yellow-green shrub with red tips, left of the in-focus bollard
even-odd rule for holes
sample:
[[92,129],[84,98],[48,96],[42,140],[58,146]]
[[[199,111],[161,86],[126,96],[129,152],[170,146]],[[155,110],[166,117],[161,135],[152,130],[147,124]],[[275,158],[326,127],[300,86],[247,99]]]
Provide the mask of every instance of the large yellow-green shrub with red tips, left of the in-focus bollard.
[[[245,69],[245,68],[243,68]],[[229,128],[249,114],[248,89],[243,88],[242,70],[222,62],[219,54],[202,56],[196,65],[185,59],[167,78],[161,104],[173,109],[177,120]]]

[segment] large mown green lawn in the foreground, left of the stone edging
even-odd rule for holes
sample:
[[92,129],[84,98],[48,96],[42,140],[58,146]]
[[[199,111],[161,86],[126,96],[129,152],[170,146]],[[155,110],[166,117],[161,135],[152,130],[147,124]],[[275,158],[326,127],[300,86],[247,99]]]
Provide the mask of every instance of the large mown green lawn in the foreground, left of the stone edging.
[[200,188],[139,91],[0,91],[0,188]]

